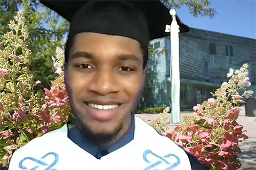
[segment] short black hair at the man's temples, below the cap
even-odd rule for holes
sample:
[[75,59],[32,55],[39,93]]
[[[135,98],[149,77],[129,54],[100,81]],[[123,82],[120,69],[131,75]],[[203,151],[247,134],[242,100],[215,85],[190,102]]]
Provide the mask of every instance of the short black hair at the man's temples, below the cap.
[[[74,36],[71,38],[68,38],[67,40],[66,48],[65,48],[65,65],[68,64],[70,51],[74,43],[73,41],[74,41]],[[140,49],[143,56],[143,70],[144,70],[148,62],[148,46],[143,47],[143,45],[140,43]]]

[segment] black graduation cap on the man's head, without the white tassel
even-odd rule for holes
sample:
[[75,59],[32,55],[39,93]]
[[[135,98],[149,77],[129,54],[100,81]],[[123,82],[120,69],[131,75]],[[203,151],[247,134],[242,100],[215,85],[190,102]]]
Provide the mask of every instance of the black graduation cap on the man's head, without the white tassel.
[[[129,37],[138,40],[146,48],[150,39],[169,35],[164,31],[165,25],[172,21],[169,10],[158,0],[40,2],[70,22],[66,44],[68,52],[71,40],[80,32]],[[182,24],[178,18],[177,21],[181,33],[189,31],[187,25]]]

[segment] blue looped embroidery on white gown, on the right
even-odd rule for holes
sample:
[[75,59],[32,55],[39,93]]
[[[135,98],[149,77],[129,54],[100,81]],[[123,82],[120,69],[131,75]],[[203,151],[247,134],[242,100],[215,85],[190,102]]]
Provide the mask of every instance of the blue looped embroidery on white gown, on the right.
[[[155,156],[155,160],[156,162],[155,163],[151,163],[148,159],[147,159],[147,155],[148,154],[151,154],[153,156]],[[169,163],[165,158],[170,158],[170,157],[175,157],[177,159],[177,162],[175,162],[174,164],[171,165],[171,163]],[[170,170],[176,166],[178,166],[180,164],[180,158],[174,154],[168,154],[168,155],[165,155],[164,158],[159,156],[159,155],[156,155],[153,151],[151,150],[145,150],[144,153],[143,153],[143,159],[145,160],[145,162],[147,162],[148,164],[151,164],[149,165],[148,167],[146,167],[144,170],[149,170],[149,169],[153,169],[154,167],[156,167],[157,165],[160,165],[162,163],[165,163],[168,167],[165,168],[164,170]],[[158,160],[157,160],[158,159]]]

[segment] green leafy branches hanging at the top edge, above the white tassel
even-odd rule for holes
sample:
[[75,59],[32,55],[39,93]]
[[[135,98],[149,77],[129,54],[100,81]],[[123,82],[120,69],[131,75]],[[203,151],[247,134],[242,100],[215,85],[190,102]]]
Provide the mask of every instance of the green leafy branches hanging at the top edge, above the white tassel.
[[188,6],[189,13],[197,17],[198,15],[209,16],[211,19],[217,12],[211,8],[209,0],[161,0],[162,3],[171,8],[181,8],[182,6]]

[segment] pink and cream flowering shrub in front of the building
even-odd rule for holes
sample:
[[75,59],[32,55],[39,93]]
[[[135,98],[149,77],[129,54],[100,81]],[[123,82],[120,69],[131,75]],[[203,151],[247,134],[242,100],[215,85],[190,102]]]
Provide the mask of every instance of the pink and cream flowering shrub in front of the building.
[[[202,164],[211,169],[238,169],[241,162],[236,153],[241,153],[238,143],[248,139],[243,125],[237,123],[240,103],[243,97],[249,97],[253,91],[246,91],[251,86],[248,64],[240,70],[230,69],[229,82],[222,83],[214,98],[194,106],[193,116],[184,116],[183,122],[166,136],[194,155]],[[238,90],[245,92],[239,96]],[[231,97],[231,100],[229,100]]]

